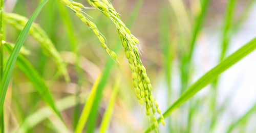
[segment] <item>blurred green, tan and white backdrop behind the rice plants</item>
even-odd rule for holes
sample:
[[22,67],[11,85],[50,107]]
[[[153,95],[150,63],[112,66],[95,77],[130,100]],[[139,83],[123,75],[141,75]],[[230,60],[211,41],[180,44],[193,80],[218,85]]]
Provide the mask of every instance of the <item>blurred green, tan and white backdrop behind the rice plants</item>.
[[[90,7],[87,1],[77,2]],[[151,78],[153,93],[162,112],[204,73],[256,36],[255,0],[111,2],[123,22],[131,25],[132,34],[140,40],[140,58]],[[38,3],[6,0],[5,10],[29,18]],[[68,16],[63,16],[61,10],[66,10]],[[84,102],[102,73],[106,76],[103,76],[105,83],[99,108],[93,110],[97,116],[94,131],[98,131],[113,88],[120,82],[108,132],[142,132],[153,123],[137,100],[131,70],[123,49],[118,48],[121,44],[116,27],[97,9],[84,9],[84,12],[92,17],[88,18],[98,26],[110,49],[117,53],[120,64],[110,59],[87,25],[56,0],[47,3],[35,22],[45,30],[67,62],[71,81],[65,81],[57,72],[53,59],[46,56],[39,42],[30,35],[24,44],[30,51],[26,58],[45,79],[56,101],[69,96],[75,98],[66,101],[68,107],[61,111],[69,130],[77,124]],[[66,21],[71,24],[67,25]],[[20,31],[8,23],[5,31],[7,42],[15,43]],[[153,132],[256,132],[255,68],[254,51],[182,104],[165,119],[165,126],[159,124]],[[5,118],[8,119],[8,132],[46,107],[17,67],[12,74],[5,105],[9,112]],[[44,116],[42,114],[38,116]],[[38,116],[32,120],[39,119]],[[40,122],[24,128],[26,132],[57,132],[56,127],[60,125],[55,119],[54,115],[46,115]],[[89,127],[90,116],[86,130]]]

